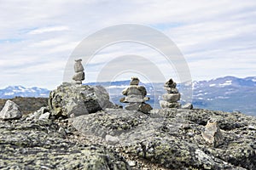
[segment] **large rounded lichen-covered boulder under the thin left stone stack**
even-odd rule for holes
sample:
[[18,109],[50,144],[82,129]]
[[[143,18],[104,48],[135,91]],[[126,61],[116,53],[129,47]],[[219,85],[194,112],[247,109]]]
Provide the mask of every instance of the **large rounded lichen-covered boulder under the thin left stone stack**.
[[102,86],[88,86],[63,82],[49,94],[49,108],[53,116],[80,116],[107,107],[114,107]]

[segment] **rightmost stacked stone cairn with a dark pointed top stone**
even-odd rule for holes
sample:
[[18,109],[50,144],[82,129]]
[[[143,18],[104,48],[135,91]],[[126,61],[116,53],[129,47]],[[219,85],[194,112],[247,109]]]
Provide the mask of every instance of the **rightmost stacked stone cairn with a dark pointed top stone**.
[[181,108],[181,104],[177,102],[180,99],[180,94],[176,86],[177,83],[173,82],[172,78],[165,83],[164,88],[167,94],[162,95],[163,100],[160,100],[161,108]]

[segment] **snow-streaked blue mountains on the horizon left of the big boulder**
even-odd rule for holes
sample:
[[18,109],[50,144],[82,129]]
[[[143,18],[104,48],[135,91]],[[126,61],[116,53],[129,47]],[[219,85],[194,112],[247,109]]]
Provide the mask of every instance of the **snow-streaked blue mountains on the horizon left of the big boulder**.
[[15,97],[49,97],[49,90],[46,88],[24,88],[22,86],[9,86],[0,89],[1,99],[12,99]]

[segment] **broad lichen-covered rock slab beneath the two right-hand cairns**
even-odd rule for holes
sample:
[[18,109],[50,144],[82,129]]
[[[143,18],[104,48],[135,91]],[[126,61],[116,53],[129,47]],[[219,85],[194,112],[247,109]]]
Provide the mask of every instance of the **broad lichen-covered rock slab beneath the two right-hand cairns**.
[[[209,118],[218,121],[222,142],[212,147],[202,137]],[[73,126],[90,139],[167,169],[253,169],[256,118],[222,111],[107,109],[75,117]]]

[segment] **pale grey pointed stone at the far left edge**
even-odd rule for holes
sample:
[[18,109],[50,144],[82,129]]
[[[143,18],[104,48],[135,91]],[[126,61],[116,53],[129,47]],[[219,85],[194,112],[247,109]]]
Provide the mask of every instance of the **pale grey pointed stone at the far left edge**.
[[19,119],[22,116],[19,105],[16,105],[15,102],[7,100],[3,106],[3,110],[0,111],[0,119],[10,120],[10,119]]

